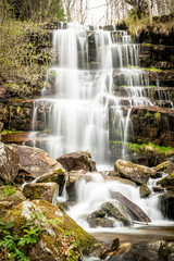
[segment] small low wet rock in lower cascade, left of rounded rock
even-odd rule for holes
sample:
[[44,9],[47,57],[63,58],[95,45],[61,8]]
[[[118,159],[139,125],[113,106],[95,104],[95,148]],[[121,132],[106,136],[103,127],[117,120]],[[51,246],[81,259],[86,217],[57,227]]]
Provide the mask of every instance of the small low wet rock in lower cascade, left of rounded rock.
[[105,212],[97,210],[87,216],[87,222],[90,227],[114,227],[114,221],[105,217]]

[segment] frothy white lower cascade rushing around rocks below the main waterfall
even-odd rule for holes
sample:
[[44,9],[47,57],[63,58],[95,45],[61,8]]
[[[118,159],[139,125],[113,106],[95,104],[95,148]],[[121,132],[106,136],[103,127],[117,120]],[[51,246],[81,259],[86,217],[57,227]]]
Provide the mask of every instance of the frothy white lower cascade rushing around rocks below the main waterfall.
[[[80,226],[88,232],[117,232],[123,228],[122,222],[115,221],[115,227],[112,228],[90,228],[87,223],[87,215],[101,209],[103,202],[112,202],[117,206],[117,200],[113,199],[111,191],[119,191],[128,200],[137,204],[151,220],[151,225],[173,225],[173,222],[166,221],[160,211],[159,192],[152,192],[152,186],[157,186],[159,179],[149,181],[151,196],[140,198],[139,188],[123,184],[119,181],[105,181],[99,173],[88,173],[87,181],[82,179],[76,184],[77,200],[75,206],[67,212]],[[86,176],[85,175],[85,176]],[[129,216],[130,219],[130,216]],[[122,229],[123,231],[123,229]]]

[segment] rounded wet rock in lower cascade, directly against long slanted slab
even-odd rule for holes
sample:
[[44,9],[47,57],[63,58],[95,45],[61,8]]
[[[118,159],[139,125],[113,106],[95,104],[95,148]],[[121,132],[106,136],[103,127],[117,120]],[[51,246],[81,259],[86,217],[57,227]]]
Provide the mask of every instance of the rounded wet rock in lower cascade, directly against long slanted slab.
[[122,222],[125,226],[130,225],[130,221],[126,214],[126,210],[123,206],[114,206],[111,202],[104,202],[101,204],[101,209],[111,217]]

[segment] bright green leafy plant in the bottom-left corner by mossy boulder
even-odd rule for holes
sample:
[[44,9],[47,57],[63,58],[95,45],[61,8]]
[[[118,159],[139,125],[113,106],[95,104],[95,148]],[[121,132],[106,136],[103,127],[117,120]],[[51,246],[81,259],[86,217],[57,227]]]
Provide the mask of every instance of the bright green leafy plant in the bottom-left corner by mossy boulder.
[[22,235],[14,235],[13,222],[0,222],[0,260],[28,261],[25,256],[25,247],[35,245],[39,240],[40,228],[33,222],[26,222],[22,227]]

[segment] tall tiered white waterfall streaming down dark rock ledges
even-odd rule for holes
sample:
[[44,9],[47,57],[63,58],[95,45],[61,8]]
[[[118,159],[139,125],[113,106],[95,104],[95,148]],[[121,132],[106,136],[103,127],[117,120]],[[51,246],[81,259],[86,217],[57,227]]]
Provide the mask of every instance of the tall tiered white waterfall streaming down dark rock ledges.
[[35,101],[34,145],[53,158],[89,150],[98,164],[110,164],[110,140],[127,140],[132,107],[152,104],[144,96],[146,73],[136,67],[139,46],[123,30],[64,27],[53,32],[54,64]]

